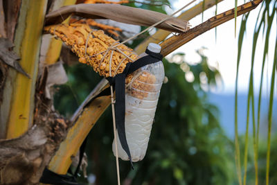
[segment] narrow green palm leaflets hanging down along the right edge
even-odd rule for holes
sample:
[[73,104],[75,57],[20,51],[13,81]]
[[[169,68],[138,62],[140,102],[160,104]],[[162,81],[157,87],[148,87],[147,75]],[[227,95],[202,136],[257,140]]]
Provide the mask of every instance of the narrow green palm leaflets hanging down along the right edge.
[[[235,7],[237,6],[238,1],[235,0]],[[272,24],[274,21],[274,16],[276,13],[277,1],[263,1],[260,11],[258,13],[258,18],[255,25],[255,30],[253,33],[253,46],[252,46],[252,55],[251,55],[251,73],[249,77],[249,91],[247,98],[247,130],[245,133],[245,146],[244,146],[244,179],[243,184],[247,182],[247,159],[248,159],[248,129],[249,129],[249,115],[252,112],[252,121],[253,121],[253,152],[254,152],[254,167],[255,167],[255,184],[258,185],[258,142],[259,142],[259,130],[260,130],[260,112],[261,112],[261,100],[262,100],[262,82],[264,76],[265,60],[269,53],[269,35],[272,30]],[[236,9],[236,8],[235,8]],[[248,15],[247,15],[248,16]],[[235,81],[235,154],[236,154],[236,165],[238,175],[241,173],[240,164],[238,162],[240,155],[240,145],[238,143],[238,69],[240,64],[240,55],[242,49],[242,40],[245,31],[245,24],[247,21],[247,16],[242,19],[242,24],[240,27],[240,33],[238,38],[238,61],[237,61],[237,76]],[[235,21],[236,24],[236,21]],[[256,47],[258,42],[258,37],[262,33],[265,37],[264,41],[264,51],[262,55],[262,69],[260,76],[260,89],[258,96],[258,110],[257,110],[257,121],[255,116],[255,105],[254,105],[254,92],[253,92],[253,64],[255,60]],[[276,38],[277,42],[277,38]],[[271,139],[271,124],[272,124],[272,106],[273,106],[273,94],[274,94],[274,80],[276,73],[276,60],[277,60],[277,49],[275,46],[274,51],[274,64],[272,68],[271,76],[271,89],[270,89],[270,98],[269,98],[269,112],[268,112],[268,136],[267,136],[267,166],[266,166],[266,184],[269,184],[269,159],[270,159],[270,139]],[[251,107],[250,107],[251,106]],[[257,123],[257,125],[256,125]],[[239,176],[240,182],[240,176]]]

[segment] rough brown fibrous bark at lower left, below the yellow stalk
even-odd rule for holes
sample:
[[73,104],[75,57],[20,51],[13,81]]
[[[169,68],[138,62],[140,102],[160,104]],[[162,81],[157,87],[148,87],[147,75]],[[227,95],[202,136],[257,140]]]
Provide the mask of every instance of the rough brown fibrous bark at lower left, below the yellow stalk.
[[71,126],[43,93],[47,73],[45,69],[37,81],[33,127],[16,139],[0,141],[0,184],[37,184]]

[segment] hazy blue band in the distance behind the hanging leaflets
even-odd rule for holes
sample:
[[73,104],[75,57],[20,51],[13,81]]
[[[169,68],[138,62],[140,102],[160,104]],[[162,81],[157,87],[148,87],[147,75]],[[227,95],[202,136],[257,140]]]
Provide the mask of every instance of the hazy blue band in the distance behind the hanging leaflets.
[[[257,122],[258,96],[255,100],[255,116]],[[235,136],[235,94],[208,94],[208,101],[217,105],[220,110],[220,124],[231,139]],[[260,113],[260,136],[267,136],[267,117],[269,109],[269,98],[262,97]],[[238,94],[238,131],[244,134],[247,123],[247,94]],[[256,123],[257,124],[257,123]],[[252,114],[249,115],[249,134],[252,134]],[[277,131],[277,99],[274,99],[272,131]]]

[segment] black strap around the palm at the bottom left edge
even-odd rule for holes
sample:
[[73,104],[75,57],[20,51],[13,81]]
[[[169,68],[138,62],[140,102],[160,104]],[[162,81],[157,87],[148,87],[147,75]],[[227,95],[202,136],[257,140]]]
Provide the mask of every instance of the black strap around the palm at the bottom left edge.
[[81,185],[76,182],[75,177],[69,175],[60,175],[54,173],[48,168],[44,169],[42,177],[40,177],[39,182],[44,184],[53,184],[53,185]]

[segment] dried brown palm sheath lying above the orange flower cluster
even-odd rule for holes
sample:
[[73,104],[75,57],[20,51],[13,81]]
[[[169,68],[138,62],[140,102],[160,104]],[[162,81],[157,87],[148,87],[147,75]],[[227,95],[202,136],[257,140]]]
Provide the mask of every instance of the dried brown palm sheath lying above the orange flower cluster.
[[166,21],[163,21],[163,23],[156,27],[177,33],[188,30],[188,21],[170,17],[160,12],[116,4],[78,4],[64,6],[46,15],[46,25],[60,24],[72,14],[89,19],[111,19],[140,26],[152,26],[168,17]]

